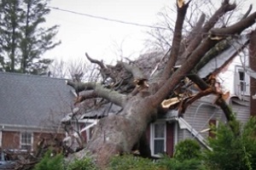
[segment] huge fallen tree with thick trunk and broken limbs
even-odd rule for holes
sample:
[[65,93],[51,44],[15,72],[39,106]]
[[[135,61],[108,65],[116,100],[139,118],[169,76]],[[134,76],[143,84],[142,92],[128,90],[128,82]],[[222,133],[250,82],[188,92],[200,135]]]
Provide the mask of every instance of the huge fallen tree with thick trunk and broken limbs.
[[[218,50],[221,43],[236,40],[242,31],[249,26],[253,26],[256,13],[245,15],[242,20],[237,20],[232,26],[215,28],[218,20],[229,11],[236,8],[236,4],[230,4],[229,0],[224,0],[220,8],[205,21],[202,14],[197,25],[191,31],[193,36],[188,37],[188,44],[180,52],[183,39],[183,22],[189,2],[177,0],[177,20],[174,28],[171,52],[166,54],[158,63],[150,65],[147,69],[147,61],[138,59],[129,63],[119,61],[117,65],[105,65],[102,61],[92,59],[89,54],[85,54],[91,63],[99,65],[102,75],[102,82],[73,82],[67,81],[67,85],[72,86],[80,94],[77,103],[87,99],[102,98],[105,101],[119,105],[122,110],[117,115],[103,117],[94,128],[94,133],[88,144],[80,150],[76,156],[82,159],[84,156],[92,156],[99,167],[105,167],[111,156],[130,153],[132,148],[138,145],[142,156],[150,156],[150,149],[145,139],[145,130],[150,122],[154,122],[157,114],[165,111],[165,99],[170,96],[177,96],[179,88],[187,88],[188,83],[184,78],[188,77],[189,82],[194,83],[201,89],[199,94],[177,96],[183,102],[179,105],[180,114],[186,110],[187,106],[208,94],[216,94],[215,104],[224,111],[227,120],[231,120],[233,115],[229,106],[224,101],[224,94],[215,87],[215,77],[219,68],[227,65],[225,62],[216,68],[216,71],[209,72],[207,77],[199,77],[197,72],[209,60],[218,56],[218,53],[210,53]],[[228,44],[231,45],[231,44]],[[243,48],[243,47],[241,47]],[[241,49],[237,49],[239,51]],[[180,67],[176,67],[177,59],[185,59]],[[146,59],[147,60],[147,59]],[[206,78],[206,79],[203,79]],[[82,105],[80,105],[82,106]]]

